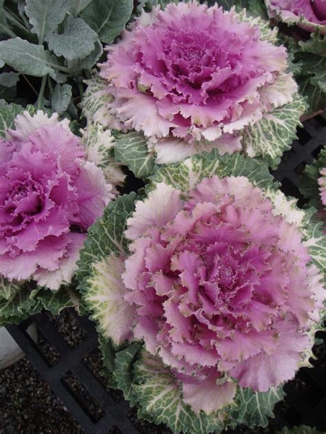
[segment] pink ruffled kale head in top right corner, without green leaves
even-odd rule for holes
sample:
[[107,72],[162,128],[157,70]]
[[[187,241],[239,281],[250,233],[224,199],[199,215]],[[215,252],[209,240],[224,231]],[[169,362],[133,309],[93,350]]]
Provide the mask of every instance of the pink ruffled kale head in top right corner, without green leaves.
[[265,0],[270,17],[326,34],[326,0]]

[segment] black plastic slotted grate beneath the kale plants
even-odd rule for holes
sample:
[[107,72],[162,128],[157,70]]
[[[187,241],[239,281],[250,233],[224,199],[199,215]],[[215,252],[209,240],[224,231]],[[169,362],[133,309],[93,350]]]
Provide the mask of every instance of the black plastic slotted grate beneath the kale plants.
[[[316,158],[326,144],[326,115],[317,116],[304,123],[298,131],[298,140],[287,151],[274,176],[281,182],[286,195],[303,197],[298,191],[299,176],[305,164]],[[100,372],[90,368],[98,357],[98,335],[94,323],[86,316],[74,316],[74,329],[79,332],[67,336],[65,329],[56,327],[53,318],[43,312],[22,321],[19,325],[8,325],[7,329],[28,356],[37,371],[61,399],[78,424],[87,434],[169,434],[164,426],[154,426],[137,419],[119,391],[111,391],[100,377]],[[41,331],[41,338],[34,343],[26,333],[34,322]],[[319,333],[326,341],[326,333]],[[254,430],[239,426],[228,433],[274,433],[283,426],[307,424],[326,431],[326,345],[314,347],[318,360],[313,369],[301,369],[296,378],[285,385],[285,400],[275,406],[275,418],[270,419],[268,428]],[[97,367],[98,365],[95,364]]]

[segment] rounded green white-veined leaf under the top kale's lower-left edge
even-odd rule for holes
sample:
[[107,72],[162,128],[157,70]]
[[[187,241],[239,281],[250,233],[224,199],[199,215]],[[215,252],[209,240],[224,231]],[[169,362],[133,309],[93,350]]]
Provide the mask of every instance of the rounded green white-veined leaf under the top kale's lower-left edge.
[[149,152],[142,133],[131,131],[116,136],[114,157],[134,173],[135,177],[148,177],[154,168],[153,153]]

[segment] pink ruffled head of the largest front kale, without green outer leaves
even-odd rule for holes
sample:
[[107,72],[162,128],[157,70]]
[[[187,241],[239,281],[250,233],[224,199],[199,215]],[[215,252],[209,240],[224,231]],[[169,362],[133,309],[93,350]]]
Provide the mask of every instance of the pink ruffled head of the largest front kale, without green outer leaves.
[[120,288],[133,322],[120,320],[120,339],[144,340],[193,411],[230,404],[237,384],[268,391],[309,364],[325,294],[303,214],[234,176],[183,193],[161,182],[136,203]]

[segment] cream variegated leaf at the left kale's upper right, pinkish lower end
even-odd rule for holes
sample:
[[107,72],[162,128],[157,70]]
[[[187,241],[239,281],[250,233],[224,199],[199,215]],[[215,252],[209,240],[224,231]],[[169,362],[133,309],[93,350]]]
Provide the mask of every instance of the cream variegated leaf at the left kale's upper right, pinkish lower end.
[[98,122],[89,122],[87,128],[81,130],[81,133],[87,160],[103,169],[105,177],[111,184],[121,186],[126,176],[120,168],[121,164],[113,159],[115,140],[111,131],[105,130]]

